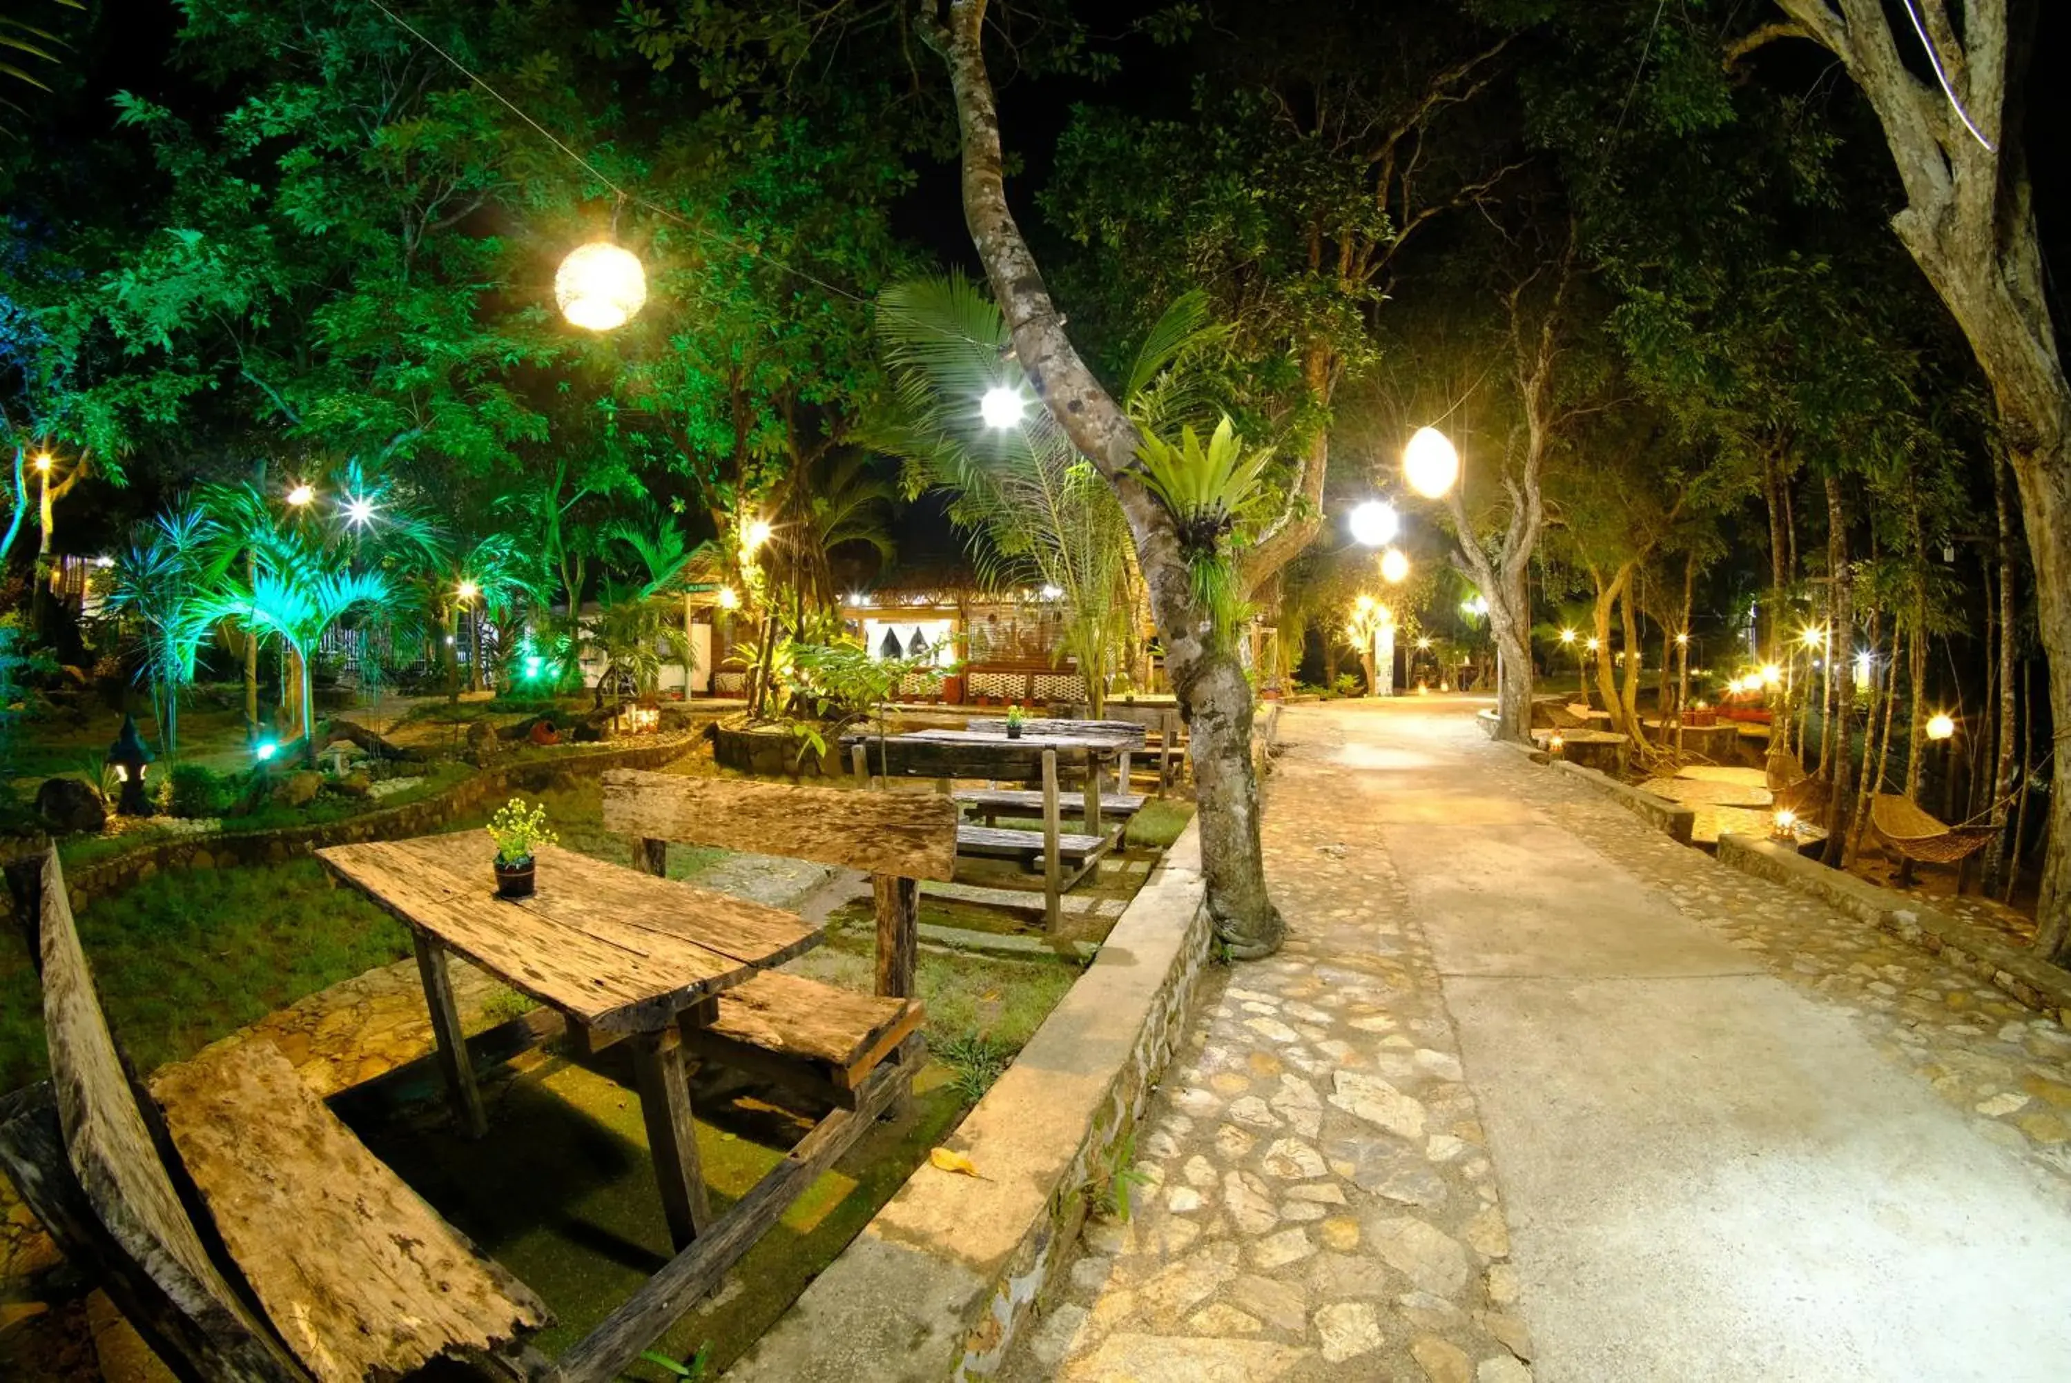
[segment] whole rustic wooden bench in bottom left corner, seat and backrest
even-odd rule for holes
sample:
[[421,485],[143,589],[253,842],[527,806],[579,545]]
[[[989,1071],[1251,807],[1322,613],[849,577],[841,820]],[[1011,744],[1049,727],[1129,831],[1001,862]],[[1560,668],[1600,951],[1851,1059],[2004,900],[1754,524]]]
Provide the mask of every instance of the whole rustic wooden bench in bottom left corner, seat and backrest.
[[10,865],[8,884],[43,977],[54,1081],[6,1104],[0,1166],[174,1373],[329,1383],[439,1356],[520,1369],[547,1308],[381,1166],[278,1048],[211,1048],[141,1093],[56,851]]

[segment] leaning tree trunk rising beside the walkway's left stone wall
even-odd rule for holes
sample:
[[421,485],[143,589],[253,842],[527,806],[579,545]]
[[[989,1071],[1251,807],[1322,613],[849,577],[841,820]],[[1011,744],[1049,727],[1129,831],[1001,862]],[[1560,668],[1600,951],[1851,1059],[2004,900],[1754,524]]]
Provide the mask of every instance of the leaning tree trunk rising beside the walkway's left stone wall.
[[1050,300],[1042,269],[1007,205],[1000,118],[986,72],[986,0],[924,0],[922,33],[949,64],[963,135],[963,213],[992,294],[1013,331],[1029,385],[1100,474],[1129,520],[1151,613],[1166,642],[1166,673],[1193,737],[1201,874],[1216,934],[1241,959],[1280,948],[1286,923],[1265,892],[1259,785],[1251,764],[1251,683],[1195,598],[1172,516],[1137,476],[1141,437],[1100,385]]

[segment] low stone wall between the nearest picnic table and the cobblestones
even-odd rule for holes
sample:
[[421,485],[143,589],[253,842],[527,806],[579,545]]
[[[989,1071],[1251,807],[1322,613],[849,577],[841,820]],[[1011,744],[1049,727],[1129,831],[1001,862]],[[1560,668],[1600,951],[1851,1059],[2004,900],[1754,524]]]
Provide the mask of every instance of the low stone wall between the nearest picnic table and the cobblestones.
[[729,1383],[990,1377],[1087,1213],[1187,1031],[1209,961],[1197,826],[1172,845],[949,1145],[762,1340]]

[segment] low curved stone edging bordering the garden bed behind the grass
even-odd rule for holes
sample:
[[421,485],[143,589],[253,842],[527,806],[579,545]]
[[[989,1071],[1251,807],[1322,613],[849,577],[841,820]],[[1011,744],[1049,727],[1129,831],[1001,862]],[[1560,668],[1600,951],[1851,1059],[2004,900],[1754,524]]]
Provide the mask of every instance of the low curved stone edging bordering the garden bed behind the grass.
[[292,855],[307,855],[325,845],[352,845],[356,841],[391,841],[402,836],[422,836],[439,830],[456,816],[480,807],[485,801],[507,793],[514,787],[538,791],[561,774],[603,772],[605,768],[661,768],[683,756],[694,743],[694,735],[671,735],[630,749],[567,752],[557,758],[526,760],[505,768],[489,768],[464,783],[456,783],[435,797],[408,801],[400,807],[377,807],[338,822],[317,826],[278,826],[273,830],[226,830],[205,836],[180,836],[159,845],[126,851],[114,859],[81,865],[66,872],[72,894],[72,909],[79,911],[89,899],[122,892],[159,870],[207,870],[217,865],[249,865],[282,861]]

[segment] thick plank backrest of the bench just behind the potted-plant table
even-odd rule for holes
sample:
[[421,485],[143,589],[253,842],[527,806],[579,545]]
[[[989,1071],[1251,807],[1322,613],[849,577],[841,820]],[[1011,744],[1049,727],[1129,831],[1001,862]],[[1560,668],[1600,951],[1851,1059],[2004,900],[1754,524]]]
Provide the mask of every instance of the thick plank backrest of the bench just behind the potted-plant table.
[[603,774],[605,828],[816,863],[949,880],[957,807],[922,793],[853,793],[619,768]]

